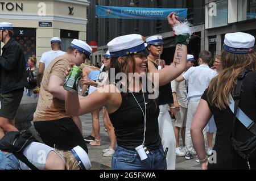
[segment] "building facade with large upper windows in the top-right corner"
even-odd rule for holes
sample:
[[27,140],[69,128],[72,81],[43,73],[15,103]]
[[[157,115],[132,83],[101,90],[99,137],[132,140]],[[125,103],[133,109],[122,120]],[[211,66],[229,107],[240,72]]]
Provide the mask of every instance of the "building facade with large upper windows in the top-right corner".
[[205,1],[205,49],[220,54],[226,33],[256,37],[256,0]]

